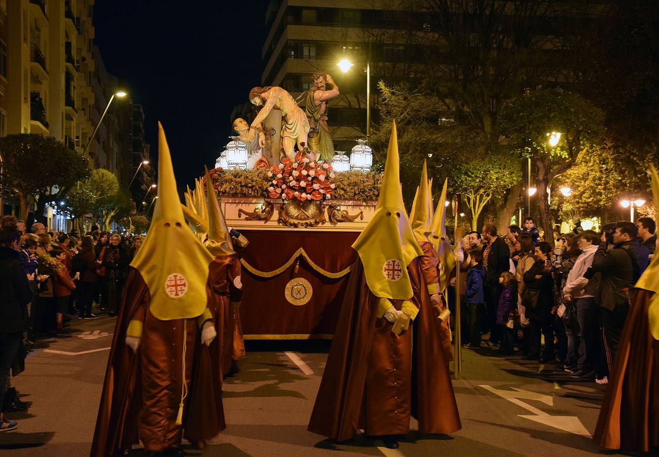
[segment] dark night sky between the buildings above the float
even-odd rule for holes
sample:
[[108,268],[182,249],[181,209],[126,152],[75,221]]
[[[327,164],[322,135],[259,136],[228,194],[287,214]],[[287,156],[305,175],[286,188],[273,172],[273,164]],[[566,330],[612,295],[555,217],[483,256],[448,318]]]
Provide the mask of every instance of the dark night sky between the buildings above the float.
[[179,189],[202,175],[204,165],[214,166],[231,135],[231,110],[260,85],[267,5],[268,0],[94,5],[94,41],[105,67],[142,104],[154,160],[158,121],[163,124]]

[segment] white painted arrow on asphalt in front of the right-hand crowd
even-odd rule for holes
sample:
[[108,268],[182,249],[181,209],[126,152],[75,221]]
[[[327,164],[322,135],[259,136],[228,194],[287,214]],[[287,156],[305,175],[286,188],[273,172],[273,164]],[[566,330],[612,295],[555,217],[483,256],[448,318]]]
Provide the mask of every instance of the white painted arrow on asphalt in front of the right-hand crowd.
[[569,433],[574,433],[575,435],[581,435],[582,437],[592,438],[592,435],[588,432],[586,427],[583,426],[583,423],[579,420],[579,417],[574,415],[550,415],[544,411],[538,410],[529,404],[519,400],[524,398],[525,400],[536,400],[542,402],[548,406],[554,406],[554,399],[549,395],[536,394],[535,392],[529,392],[529,390],[521,390],[514,388],[513,390],[500,390],[492,386],[481,385],[480,387],[489,390],[493,394],[505,398],[509,402],[521,406],[525,410],[533,413],[534,415],[522,415],[518,414],[519,417],[524,419],[529,419],[531,421],[536,421],[538,423],[543,423],[544,425],[549,425],[555,429],[561,429]]

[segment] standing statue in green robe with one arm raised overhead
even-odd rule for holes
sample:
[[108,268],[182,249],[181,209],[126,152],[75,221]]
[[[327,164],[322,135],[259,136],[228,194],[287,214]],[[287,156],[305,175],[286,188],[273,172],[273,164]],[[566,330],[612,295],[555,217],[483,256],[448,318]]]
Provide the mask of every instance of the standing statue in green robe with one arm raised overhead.
[[[304,113],[309,121],[309,149],[316,153],[316,160],[331,160],[334,156],[334,144],[328,129],[328,102],[339,95],[339,86],[331,76],[322,71],[312,75],[314,87],[306,92]],[[327,90],[327,84],[333,88]]]

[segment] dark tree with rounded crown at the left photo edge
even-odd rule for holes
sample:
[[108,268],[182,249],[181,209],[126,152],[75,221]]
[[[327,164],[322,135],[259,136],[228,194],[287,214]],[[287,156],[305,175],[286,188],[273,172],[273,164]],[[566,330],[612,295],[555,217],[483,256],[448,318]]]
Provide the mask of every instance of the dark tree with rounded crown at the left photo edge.
[[80,179],[90,175],[88,158],[53,137],[18,133],[0,138],[3,155],[3,189],[16,193],[18,214],[27,219],[36,202],[36,216],[45,205],[62,200]]

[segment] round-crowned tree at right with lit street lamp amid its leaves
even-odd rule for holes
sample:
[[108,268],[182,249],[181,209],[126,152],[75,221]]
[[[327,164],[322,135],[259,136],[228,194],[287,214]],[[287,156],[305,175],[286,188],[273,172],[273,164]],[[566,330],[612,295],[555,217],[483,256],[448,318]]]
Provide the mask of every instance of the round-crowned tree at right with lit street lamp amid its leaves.
[[[508,102],[501,111],[500,129],[508,145],[521,157],[531,158],[537,169],[536,189],[540,220],[545,233],[552,233],[547,188],[565,173],[604,129],[604,115],[591,102],[560,89],[541,89]],[[552,132],[561,133],[558,144],[548,142]],[[546,237],[553,243],[552,237]]]

